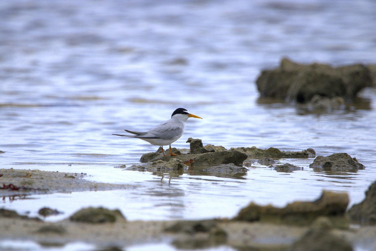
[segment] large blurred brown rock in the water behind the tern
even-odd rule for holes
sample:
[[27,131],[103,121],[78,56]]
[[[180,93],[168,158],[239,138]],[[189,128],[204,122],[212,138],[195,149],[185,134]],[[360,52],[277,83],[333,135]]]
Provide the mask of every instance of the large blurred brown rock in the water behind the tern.
[[280,66],[264,70],[256,80],[261,97],[307,103],[315,95],[353,102],[356,94],[372,85],[370,70],[361,65],[331,67],[326,64],[297,64],[282,59]]

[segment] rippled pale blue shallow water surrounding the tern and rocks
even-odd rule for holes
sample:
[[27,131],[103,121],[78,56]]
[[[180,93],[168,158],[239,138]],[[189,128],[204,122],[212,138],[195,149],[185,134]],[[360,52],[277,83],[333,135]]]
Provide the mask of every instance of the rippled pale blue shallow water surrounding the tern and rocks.
[[[255,80],[283,56],[298,62],[371,64],[376,3],[360,1],[1,1],[0,163],[3,168],[84,172],[136,185],[105,192],[4,198],[1,207],[67,218],[86,206],[120,209],[127,219],[232,217],[250,201],[285,206],[323,189],[364,198],[376,178],[376,91],[349,111],[305,113],[258,99]],[[177,177],[115,168],[158,147],[111,135],[148,130],[184,107],[173,144],[276,147],[317,155],[346,152],[366,166],[314,172],[313,159],[282,159],[303,171],[253,165],[243,177],[186,171]],[[30,199],[30,200],[29,200]],[[32,200],[31,200],[32,199]]]

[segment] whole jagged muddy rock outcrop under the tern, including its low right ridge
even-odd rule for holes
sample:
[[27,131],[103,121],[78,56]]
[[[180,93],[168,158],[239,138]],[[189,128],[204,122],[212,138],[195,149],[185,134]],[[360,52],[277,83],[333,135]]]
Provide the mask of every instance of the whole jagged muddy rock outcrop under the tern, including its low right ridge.
[[[280,151],[277,148],[270,147],[268,149],[260,149],[256,147],[239,147],[239,148],[231,148],[230,150],[226,150],[226,148],[222,146],[214,146],[214,145],[206,145],[203,147],[201,139],[193,139],[189,138],[187,142],[190,143],[190,153],[188,154],[181,154],[179,150],[176,148],[172,148],[173,153],[176,153],[175,156],[164,156],[162,154],[161,148],[158,149],[155,153],[146,153],[140,159],[141,163],[149,163],[153,162],[150,165],[133,165],[130,168],[131,170],[140,170],[140,171],[150,171],[156,172],[161,171],[163,169],[170,170],[170,167],[162,167],[163,165],[167,165],[170,160],[178,159],[181,160],[184,165],[187,166],[211,166],[210,168],[206,168],[207,172],[214,172],[216,173],[215,176],[219,175],[218,170],[223,171],[220,176],[230,174],[233,175],[236,173],[244,173],[246,169],[239,170],[237,168],[233,168],[231,165],[235,166],[242,166],[244,160],[247,158],[259,158],[264,157],[265,160],[260,160],[262,163],[261,165],[271,165],[271,163],[276,163],[271,157],[273,158],[310,158],[315,156],[315,150],[312,148],[308,148],[307,150],[303,151]],[[158,162],[157,161],[162,161]],[[162,166],[161,166],[162,165]],[[251,166],[252,162],[245,163],[245,166]],[[174,165],[172,165],[174,166]],[[155,170],[158,168],[158,170]],[[180,167],[182,168],[182,167]],[[177,168],[173,168],[177,169]],[[277,168],[280,170],[284,170],[287,172],[295,171],[298,168],[294,166],[282,166]]]

